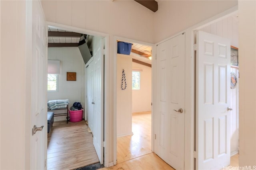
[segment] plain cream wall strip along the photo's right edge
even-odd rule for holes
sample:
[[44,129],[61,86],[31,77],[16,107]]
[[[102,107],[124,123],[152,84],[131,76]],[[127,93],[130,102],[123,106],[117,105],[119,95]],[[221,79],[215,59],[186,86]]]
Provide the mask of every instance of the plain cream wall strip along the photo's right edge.
[[256,1],[238,1],[239,166],[256,166]]

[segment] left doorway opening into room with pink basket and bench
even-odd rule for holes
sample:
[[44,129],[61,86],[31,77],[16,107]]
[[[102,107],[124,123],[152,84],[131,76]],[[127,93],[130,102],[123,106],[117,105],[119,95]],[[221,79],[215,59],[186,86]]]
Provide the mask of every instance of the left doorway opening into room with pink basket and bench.
[[[66,112],[67,115],[57,117],[56,114],[61,109],[48,110],[54,112],[54,123],[48,133],[48,169],[75,169],[97,162],[104,164],[103,146],[98,143],[103,143],[104,140],[104,49],[106,41],[104,36],[72,31],[73,29],[48,27],[48,61],[58,61],[60,70],[56,73],[55,79],[48,76],[48,82],[52,84],[48,86],[47,100],[68,99],[68,109],[75,102],[80,102],[83,107],[83,120],[79,119],[76,122],[76,117],[71,120],[72,115],[69,111]],[[92,62],[93,59],[97,62]],[[89,64],[94,66],[93,72],[95,72],[90,80],[86,77],[86,66]],[[68,78],[68,72],[75,73],[72,80]],[[90,102],[87,98],[88,81],[94,84],[90,87],[97,87],[93,89],[95,90],[93,101]],[[89,103],[92,105],[92,102],[94,106],[89,107]],[[91,121],[90,117],[90,126],[86,123],[89,121],[89,114],[94,115],[97,120]]]

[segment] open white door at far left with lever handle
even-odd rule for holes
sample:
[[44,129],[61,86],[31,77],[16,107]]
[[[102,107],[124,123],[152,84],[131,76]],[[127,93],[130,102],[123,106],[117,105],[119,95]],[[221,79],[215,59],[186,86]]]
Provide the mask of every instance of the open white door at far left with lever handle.
[[[46,169],[47,159],[47,27],[39,1],[29,1],[32,6],[32,60],[31,76],[31,167]],[[29,62],[29,61],[27,61]],[[29,87],[29,86],[28,86]],[[44,126],[32,135],[32,128]],[[39,130],[39,129],[38,129]]]

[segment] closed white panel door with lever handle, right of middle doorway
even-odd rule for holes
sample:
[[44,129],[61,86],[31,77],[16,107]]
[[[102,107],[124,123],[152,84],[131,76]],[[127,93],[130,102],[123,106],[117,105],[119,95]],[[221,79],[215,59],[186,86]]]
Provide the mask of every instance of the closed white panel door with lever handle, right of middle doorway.
[[173,168],[184,169],[185,34],[159,44],[156,54],[154,151]]

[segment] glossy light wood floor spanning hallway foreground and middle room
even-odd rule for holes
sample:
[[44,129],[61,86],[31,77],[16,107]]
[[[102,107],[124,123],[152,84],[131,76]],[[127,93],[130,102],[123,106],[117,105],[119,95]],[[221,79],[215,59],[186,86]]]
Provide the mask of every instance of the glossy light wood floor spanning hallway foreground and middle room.
[[174,170],[151,151],[151,111],[132,114],[132,132],[117,138],[117,164],[101,170]]

